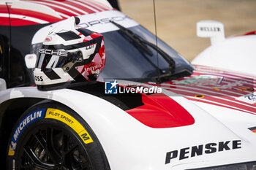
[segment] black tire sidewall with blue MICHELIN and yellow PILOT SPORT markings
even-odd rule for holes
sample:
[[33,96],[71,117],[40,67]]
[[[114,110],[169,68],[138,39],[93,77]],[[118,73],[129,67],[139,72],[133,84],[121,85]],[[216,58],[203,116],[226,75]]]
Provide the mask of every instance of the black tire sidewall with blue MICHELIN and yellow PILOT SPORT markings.
[[[86,130],[86,133],[90,138],[89,140],[91,140],[92,142],[83,141],[80,138],[79,134],[75,131],[75,129],[72,129],[71,126],[65,123],[65,120],[61,121],[61,120],[56,120],[49,117],[46,118],[46,115],[49,109],[59,110],[61,111],[60,113],[67,114],[70,117],[72,117],[72,119],[75,119],[75,121],[80,123],[80,125],[82,125],[83,128]],[[35,112],[36,112],[36,116],[34,116]],[[41,112],[41,117],[39,117],[39,114],[38,114],[38,118],[37,118],[37,113],[39,112]],[[36,117],[36,118],[34,120],[30,120],[30,122],[28,123],[28,121],[26,121],[28,120],[27,117],[30,117],[30,119],[31,117],[34,117],[34,118]],[[27,124],[20,125],[20,123],[23,123],[23,121],[25,121]],[[20,161],[18,158],[18,155],[20,150],[23,147],[21,146],[21,144],[23,143],[23,140],[28,138],[27,135],[31,130],[33,130],[33,128],[37,128],[37,125],[44,122],[51,123],[56,127],[61,126],[61,128],[66,128],[68,131],[72,131],[72,134],[75,135],[75,138],[83,143],[83,147],[86,150],[87,155],[89,156],[93,169],[95,170],[110,169],[107,158],[105,156],[105,152],[102,149],[102,146],[99,143],[97,136],[94,134],[90,126],[83,120],[83,118],[80,117],[80,115],[78,115],[72,109],[69,109],[68,107],[62,104],[59,104],[56,102],[49,102],[49,101],[41,102],[39,104],[35,104],[34,106],[30,107],[29,109],[26,110],[26,112],[23,113],[23,115],[21,115],[17,123],[15,123],[14,128],[12,129],[12,134],[9,139],[8,147],[10,148],[13,147],[13,142],[16,142],[16,146],[14,147],[14,150],[10,148],[8,148],[7,150],[7,169],[20,169],[18,167],[18,164]],[[22,131],[20,131],[20,133],[17,133],[18,129],[20,130],[20,127],[22,127]],[[15,141],[15,139],[17,140]],[[14,151],[14,154],[12,150]]]

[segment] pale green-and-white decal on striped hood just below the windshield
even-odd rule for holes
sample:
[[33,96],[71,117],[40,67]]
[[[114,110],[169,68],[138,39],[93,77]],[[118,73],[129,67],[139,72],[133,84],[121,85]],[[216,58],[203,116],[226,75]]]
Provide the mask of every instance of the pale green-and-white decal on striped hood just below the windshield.
[[198,77],[189,77],[185,80],[174,81],[175,85],[217,85],[221,83],[223,77],[201,74]]

